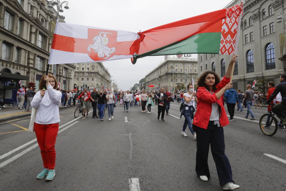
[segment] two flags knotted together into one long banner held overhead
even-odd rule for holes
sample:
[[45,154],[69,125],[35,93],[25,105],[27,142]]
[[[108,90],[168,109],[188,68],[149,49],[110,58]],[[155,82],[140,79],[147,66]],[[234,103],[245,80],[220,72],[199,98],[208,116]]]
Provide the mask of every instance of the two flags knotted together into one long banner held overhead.
[[57,22],[49,64],[103,62],[186,53],[236,54],[243,5],[143,32]]

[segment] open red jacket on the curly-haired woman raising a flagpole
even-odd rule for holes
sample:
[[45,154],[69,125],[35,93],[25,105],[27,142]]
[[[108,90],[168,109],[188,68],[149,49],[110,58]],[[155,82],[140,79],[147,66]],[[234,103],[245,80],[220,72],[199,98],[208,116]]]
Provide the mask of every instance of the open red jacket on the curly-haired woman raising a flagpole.
[[[225,76],[217,84],[217,91],[221,90],[227,83],[229,83],[230,78],[226,78]],[[194,116],[194,125],[197,127],[201,127],[203,129],[208,128],[208,122],[210,119],[210,114],[212,112],[212,104],[218,103],[220,108],[220,117],[219,117],[219,123],[221,127],[224,127],[229,124],[229,120],[227,118],[227,113],[225,112],[225,107],[223,105],[223,96],[220,99],[217,99],[217,96],[214,94],[211,94],[206,88],[199,87],[197,90],[196,97],[198,99],[197,103],[197,111]]]

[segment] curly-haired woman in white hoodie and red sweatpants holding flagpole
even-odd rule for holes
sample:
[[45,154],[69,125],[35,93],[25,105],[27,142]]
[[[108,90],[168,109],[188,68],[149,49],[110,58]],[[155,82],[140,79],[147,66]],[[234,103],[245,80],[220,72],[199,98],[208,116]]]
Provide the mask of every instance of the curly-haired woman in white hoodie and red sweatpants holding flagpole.
[[[43,88],[44,82],[46,90]],[[61,92],[56,90],[57,80],[53,75],[41,78],[39,89],[31,107],[37,108],[34,130],[37,137],[44,170],[37,176],[38,179],[53,180],[55,176],[55,141],[59,130],[59,105],[61,103]]]

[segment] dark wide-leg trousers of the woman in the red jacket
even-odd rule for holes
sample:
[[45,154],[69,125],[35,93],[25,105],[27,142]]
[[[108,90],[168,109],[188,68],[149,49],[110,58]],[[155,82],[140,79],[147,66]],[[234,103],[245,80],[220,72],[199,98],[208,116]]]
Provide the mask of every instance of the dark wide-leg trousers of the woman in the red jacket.
[[227,182],[233,182],[231,165],[227,155],[225,155],[225,139],[223,127],[217,127],[210,121],[208,128],[196,127],[197,152],[196,152],[196,173],[199,176],[210,178],[208,169],[208,150],[212,151],[212,157],[217,167],[219,184],[223,186]]

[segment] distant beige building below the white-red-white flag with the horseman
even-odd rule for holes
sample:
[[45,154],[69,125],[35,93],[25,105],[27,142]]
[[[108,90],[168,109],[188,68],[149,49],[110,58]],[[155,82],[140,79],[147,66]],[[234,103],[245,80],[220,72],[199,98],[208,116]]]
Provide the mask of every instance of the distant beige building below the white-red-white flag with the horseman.
[[102,62],[74,63],[76,66],[74,75],[74,88],[82,90],[82,88],[111,88],[111,76],[108,69]]

